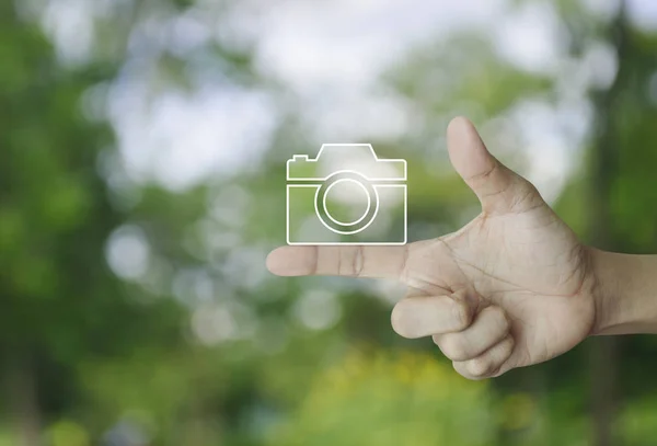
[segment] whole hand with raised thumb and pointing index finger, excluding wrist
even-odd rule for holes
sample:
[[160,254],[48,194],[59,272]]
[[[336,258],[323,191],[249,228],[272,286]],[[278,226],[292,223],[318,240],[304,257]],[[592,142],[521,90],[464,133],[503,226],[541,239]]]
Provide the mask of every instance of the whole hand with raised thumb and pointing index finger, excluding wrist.
[[281,276],[399,279],[392,311],[405,338],[433,336],[470,379],[553,358],[593,329],[590,252],[535,187],[486,149],[472,124],[448,127],[450,160],[482,213],[458,232],[404,247],[284,247],[268,268]]

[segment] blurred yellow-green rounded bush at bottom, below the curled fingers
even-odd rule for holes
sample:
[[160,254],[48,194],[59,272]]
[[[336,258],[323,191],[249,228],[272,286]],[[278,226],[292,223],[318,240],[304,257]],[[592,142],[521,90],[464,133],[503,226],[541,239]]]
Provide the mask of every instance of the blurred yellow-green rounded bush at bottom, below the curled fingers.
[[487,386],[428,354],[349,353],[320,373],[272,445],[486,445]]

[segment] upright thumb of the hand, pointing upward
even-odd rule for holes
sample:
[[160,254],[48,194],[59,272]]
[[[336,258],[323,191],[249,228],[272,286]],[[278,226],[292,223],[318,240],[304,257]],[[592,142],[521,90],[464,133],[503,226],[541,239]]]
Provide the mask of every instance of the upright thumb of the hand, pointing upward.
[[488,152],[466,118],[449,123],[447,146],[452,165],[476,194],[484,213],[522,213],[544,204],[533,184]]

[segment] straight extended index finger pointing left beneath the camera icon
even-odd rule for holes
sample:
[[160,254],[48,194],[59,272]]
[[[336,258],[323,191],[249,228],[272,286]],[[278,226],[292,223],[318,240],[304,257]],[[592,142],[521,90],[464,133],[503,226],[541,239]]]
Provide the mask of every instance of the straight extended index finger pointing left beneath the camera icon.
[[279,276],[350,276],[401,278],[411,245],[281,247],[267,256]]

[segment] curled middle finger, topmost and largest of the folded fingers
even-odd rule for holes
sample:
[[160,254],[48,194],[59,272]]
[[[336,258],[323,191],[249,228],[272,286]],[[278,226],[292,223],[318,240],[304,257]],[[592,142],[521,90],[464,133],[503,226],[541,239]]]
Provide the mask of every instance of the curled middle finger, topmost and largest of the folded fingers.
[[477,305],[479,299],[465,291],[407,297],[392,310],[392,328],[408,339],[460,331],[470,325]]

